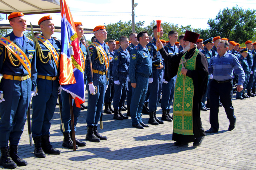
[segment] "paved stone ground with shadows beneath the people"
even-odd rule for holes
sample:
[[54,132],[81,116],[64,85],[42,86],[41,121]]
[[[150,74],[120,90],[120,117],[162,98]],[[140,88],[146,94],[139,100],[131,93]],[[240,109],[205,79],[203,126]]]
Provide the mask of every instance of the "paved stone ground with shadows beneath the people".
[[[75,152],[62,147],[57,106],[51,121],[50,140],[55,148],[61,150],[61,154],[36,158],[34,146],[29,146],[26,124],[20,140],[19,156],[28,161],[28,166],[17,169],[256,169],[256,97],[236,100],[234,95],[233,99],[236,128],[228,131],[229,122],[223,107],[220,107],[219,132],[207,135],[199,147],[193,147],[192,143],[184,147],[174,146],[172,122],[140,130],[132,127],[131,118],[117,121],[113,120],[113,114],[103,114],[103,130],[99,130],[108,140],[92,143],[85,140],[84,110],[78,119],[76,137],[86,141],[87,145]],[[159,104],[158,118],[161,118],[161,112]],[[143,115],[142,118],[148,124],[149,116]],[[201,118],[204,129],[208,130],[209,111],[202,111]]]

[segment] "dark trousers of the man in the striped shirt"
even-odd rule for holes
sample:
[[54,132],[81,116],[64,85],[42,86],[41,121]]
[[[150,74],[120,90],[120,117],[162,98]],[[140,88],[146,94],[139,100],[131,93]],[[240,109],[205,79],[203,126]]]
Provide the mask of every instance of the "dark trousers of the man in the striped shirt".
[[215,130],[219,130],[219,98],[222,103],[225,112],[227,114],[230,124],[234,124],[236,121],[236,116],[234,113],[234,108],[232,106],[232,96],[233,96],[233,81],[226,83],[217,83],[212,80],[210,91],[210,124]]

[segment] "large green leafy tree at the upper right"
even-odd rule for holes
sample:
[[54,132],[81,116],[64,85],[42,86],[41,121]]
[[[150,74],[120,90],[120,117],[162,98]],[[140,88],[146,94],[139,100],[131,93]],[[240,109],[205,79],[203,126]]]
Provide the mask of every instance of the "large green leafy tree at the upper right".
[[255,12],[256,10],[243,9],[238,6],[220,11],[215,18],[208,20],[211,37],[220,36],[238,43],[255,39]]

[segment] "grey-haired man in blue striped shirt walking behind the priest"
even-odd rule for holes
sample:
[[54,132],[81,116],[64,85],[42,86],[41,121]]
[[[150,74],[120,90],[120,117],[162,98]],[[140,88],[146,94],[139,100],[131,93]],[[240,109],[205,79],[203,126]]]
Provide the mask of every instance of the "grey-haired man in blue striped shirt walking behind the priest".
[[210,124],[211,128],[205,133],[214,133],[219,131],[219,98],[222,103],[227,117],[229,119],[228,130],[232,131],[236,126],[236,116],[232,106],[233,96],[233,69],[238,75],[237,91],[240,92],[244,89],[244,71],[239,64],[235,55],[227,53],[228,41],[221,40],[217,45],[218,55],[212,57],[209,64],[209,75],[213,75],[213,81],[210,88]]

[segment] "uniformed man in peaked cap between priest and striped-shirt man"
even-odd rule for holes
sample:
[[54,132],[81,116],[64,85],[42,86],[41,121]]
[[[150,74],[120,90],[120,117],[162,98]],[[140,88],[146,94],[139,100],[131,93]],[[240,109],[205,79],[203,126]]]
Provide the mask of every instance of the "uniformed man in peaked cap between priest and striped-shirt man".
[[[202,50],[202,53],[205,55],[205,57],[207,59],[208,66],[209,66],[210,60],[213,57],[212,50],[211,50],[213,47],[213,37],[206,39],[204,41],[204,45],[205,45],[205,48],[204,48],[204,50]],[[210,110],[209,108],[210,108],[210,84],[211,84],[211,82],[212,82],[212,75],[210,75],[208,77],[207,89],[202,98],[201,110],[204,110],[204,111]],[[205,104],[206,97],[207,97],[207,103]]]

